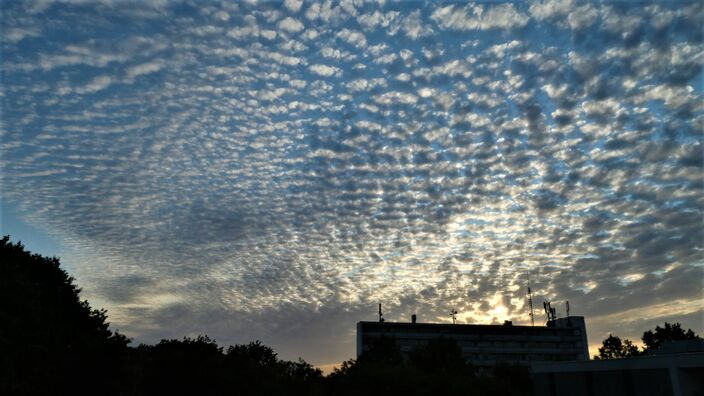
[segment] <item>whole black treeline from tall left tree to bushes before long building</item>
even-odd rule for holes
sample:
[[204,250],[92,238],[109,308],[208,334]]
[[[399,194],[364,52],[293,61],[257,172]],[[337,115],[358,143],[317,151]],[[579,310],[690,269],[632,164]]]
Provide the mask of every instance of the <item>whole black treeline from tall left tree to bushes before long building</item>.
[[107,312],[80,299],[55,257],[0,240],[1,395],[522,395],[527,370],[477,372],[449,339],[404,359],[380,339],[328,376],[279,359],[258,341],[227,348],[207,336],[131,347]]

